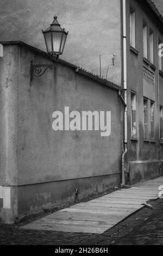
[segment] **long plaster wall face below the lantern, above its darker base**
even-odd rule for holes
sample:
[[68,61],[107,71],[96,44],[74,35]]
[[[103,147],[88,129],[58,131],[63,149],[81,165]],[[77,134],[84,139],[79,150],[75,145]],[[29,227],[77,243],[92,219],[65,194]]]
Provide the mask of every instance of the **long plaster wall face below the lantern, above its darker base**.
[[[66,65],[30,83],[30,60],[49,59],[18,48],[18,185],[120,172],[121,102],[116,90],[76,74]],[[111,111],[111,135],[100,131],[54,131],[54,111]]]

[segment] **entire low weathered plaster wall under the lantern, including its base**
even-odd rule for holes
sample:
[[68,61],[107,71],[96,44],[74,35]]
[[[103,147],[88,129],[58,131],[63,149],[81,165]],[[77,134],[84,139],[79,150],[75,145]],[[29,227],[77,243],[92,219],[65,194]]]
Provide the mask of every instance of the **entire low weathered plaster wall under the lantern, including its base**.
[[[1,58],[2,186],[11,187],[11,209],[0,218],[73,203],[120,184],[121,102],[117,90],[57,63],[30,82],[30,61],[51,59],[30,47],[4,45]],[[101,131],[54,131],[54,111],[111,111],[111,135]],[[74,190],[79,190],[78,198]]]

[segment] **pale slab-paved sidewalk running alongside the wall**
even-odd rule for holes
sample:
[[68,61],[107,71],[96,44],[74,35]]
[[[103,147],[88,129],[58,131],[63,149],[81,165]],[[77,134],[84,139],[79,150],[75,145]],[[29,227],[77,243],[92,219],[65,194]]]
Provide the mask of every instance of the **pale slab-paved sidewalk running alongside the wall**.
[[163,177],[122,188],[106,196],[78,203],[21,227],[22,229],[102,234],[124,218],[158,198]]

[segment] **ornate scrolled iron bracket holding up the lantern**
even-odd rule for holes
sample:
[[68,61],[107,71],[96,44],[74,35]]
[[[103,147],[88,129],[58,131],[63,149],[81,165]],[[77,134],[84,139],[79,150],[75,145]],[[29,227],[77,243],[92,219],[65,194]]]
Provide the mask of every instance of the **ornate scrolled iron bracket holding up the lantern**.
[[55,70],[55,63],[54,64],[33,64],[33,60],[30,62],[30,81],[33,81],[33,76],[42,76],[47,69],[54,69]]

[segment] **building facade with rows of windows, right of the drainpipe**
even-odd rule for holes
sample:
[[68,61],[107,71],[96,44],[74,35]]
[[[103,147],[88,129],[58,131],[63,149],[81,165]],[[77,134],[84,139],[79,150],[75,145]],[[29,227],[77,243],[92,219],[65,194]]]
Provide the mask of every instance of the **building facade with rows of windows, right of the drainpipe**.
[[[127,1],[128,172],[130,182],[162,170],[162,17],[151,1]],[[149,4],[150,3],[150,4]]]

